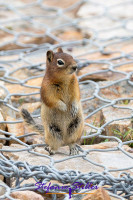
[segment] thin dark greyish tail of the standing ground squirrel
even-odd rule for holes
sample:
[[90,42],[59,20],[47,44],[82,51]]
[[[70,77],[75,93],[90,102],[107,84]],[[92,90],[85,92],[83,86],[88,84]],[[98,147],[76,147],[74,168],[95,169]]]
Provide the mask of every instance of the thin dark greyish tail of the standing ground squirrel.
[[31,127],[34,131],[37,131],[39,133],[44,133],[44,127],[41,124],[37,124],[33,117],[30,115],[28,110],[22,108],[21,115],[24,119],[24,122]]

